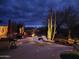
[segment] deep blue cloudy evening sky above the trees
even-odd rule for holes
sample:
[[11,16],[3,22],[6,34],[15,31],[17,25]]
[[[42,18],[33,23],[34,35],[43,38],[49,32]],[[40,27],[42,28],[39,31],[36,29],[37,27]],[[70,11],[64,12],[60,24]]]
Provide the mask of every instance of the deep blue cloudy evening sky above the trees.
[[62,11],[69,5],[79,10],[79,0],[0,0],[0,19],[11,18],[26,26],[42,25],[50,8]]

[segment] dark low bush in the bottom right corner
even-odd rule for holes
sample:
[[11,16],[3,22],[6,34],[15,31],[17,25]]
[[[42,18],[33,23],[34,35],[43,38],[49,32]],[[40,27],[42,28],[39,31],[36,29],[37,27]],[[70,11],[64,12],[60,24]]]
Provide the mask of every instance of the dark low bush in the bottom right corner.
[[79,53],[62,53],[61,59],[79,59]]

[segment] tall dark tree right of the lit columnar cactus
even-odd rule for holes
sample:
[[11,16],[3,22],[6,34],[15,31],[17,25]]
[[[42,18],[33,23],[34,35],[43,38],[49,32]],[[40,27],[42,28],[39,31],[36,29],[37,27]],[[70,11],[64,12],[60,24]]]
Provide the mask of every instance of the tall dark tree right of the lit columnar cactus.
[[74,8],[72,6],[65,8],[64,11],[60,13],[59,17],[59,20],[61,19],[59,26],[65,23],[68,27],[68,31],[72,34],[74,27],[77,25],[77,13]]

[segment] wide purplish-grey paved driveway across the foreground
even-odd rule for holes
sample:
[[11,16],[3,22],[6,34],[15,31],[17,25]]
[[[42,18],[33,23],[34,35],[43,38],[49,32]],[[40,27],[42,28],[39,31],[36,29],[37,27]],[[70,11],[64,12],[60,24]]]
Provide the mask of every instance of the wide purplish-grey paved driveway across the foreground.
[[64,51],[71,51],[72,47],[50,44],[37,46],[35,44],[23,44],[10,51],[10,59],[60,59],[59,54]]

